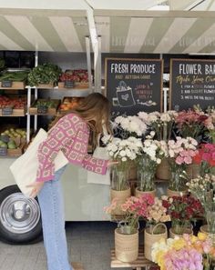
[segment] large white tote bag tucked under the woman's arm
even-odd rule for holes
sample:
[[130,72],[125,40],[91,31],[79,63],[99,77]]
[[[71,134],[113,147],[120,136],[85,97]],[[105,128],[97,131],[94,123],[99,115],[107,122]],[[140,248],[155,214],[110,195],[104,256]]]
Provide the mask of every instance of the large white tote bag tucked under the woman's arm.
[[[30,185],[36,181],[38,147],[46,138],[46,131],[40,128],[33,142],[26,149],[26,152],[18,157],[10,166],[10,170],[15,177],[16,185],[18,185],[21,192],[26,196],[29,196],[31,193],[31,187],[26,187],[26,185]],[[61,151],[56,155],[54,162],[56,171],[68,163],[67,158]]]

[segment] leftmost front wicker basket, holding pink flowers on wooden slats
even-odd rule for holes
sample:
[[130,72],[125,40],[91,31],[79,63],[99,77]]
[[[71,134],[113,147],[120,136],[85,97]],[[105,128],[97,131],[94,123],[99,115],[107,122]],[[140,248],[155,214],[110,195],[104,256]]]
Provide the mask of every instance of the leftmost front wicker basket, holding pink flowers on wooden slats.
[[138,258],[138,231],[133,235],[122,235],[115,230],[116,258],[125,263],[133,262]]

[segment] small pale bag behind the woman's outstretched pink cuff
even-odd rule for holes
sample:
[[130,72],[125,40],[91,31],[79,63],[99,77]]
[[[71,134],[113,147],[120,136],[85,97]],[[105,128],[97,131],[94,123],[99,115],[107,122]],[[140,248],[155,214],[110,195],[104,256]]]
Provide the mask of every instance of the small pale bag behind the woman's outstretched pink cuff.
[[[97,148],[95,149],[93,153],[93,156],[96,158],[109,159],[109,155],[107,154],[106,147],[97,146]],[[87,183],[110,185],[110,169],[107,168],[106,175],[100,175],[100,174],[87,171]]]

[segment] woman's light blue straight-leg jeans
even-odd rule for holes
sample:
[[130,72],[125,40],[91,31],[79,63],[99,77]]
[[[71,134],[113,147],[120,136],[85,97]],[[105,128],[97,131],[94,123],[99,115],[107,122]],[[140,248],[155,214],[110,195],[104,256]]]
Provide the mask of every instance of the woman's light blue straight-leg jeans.
[[68,261],[64,200],[59,181],[65,168],[55,173],[54,180],[45,182],[38,194],[48,270],[72,270]]

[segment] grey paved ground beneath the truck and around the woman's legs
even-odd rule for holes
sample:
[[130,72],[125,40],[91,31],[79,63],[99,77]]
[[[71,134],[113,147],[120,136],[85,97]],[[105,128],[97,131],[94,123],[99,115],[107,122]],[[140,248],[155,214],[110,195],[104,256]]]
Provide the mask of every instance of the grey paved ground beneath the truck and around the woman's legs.
[[[85,270],[111,270],[110,249],[114,247],[114,229],[110,222],[67,223],[67,244],[73,262]],[[112,268],[131,270],[131,268]],[[8,245],[0,242],[0,270],[46,270],[43,242],[34,245]]]

